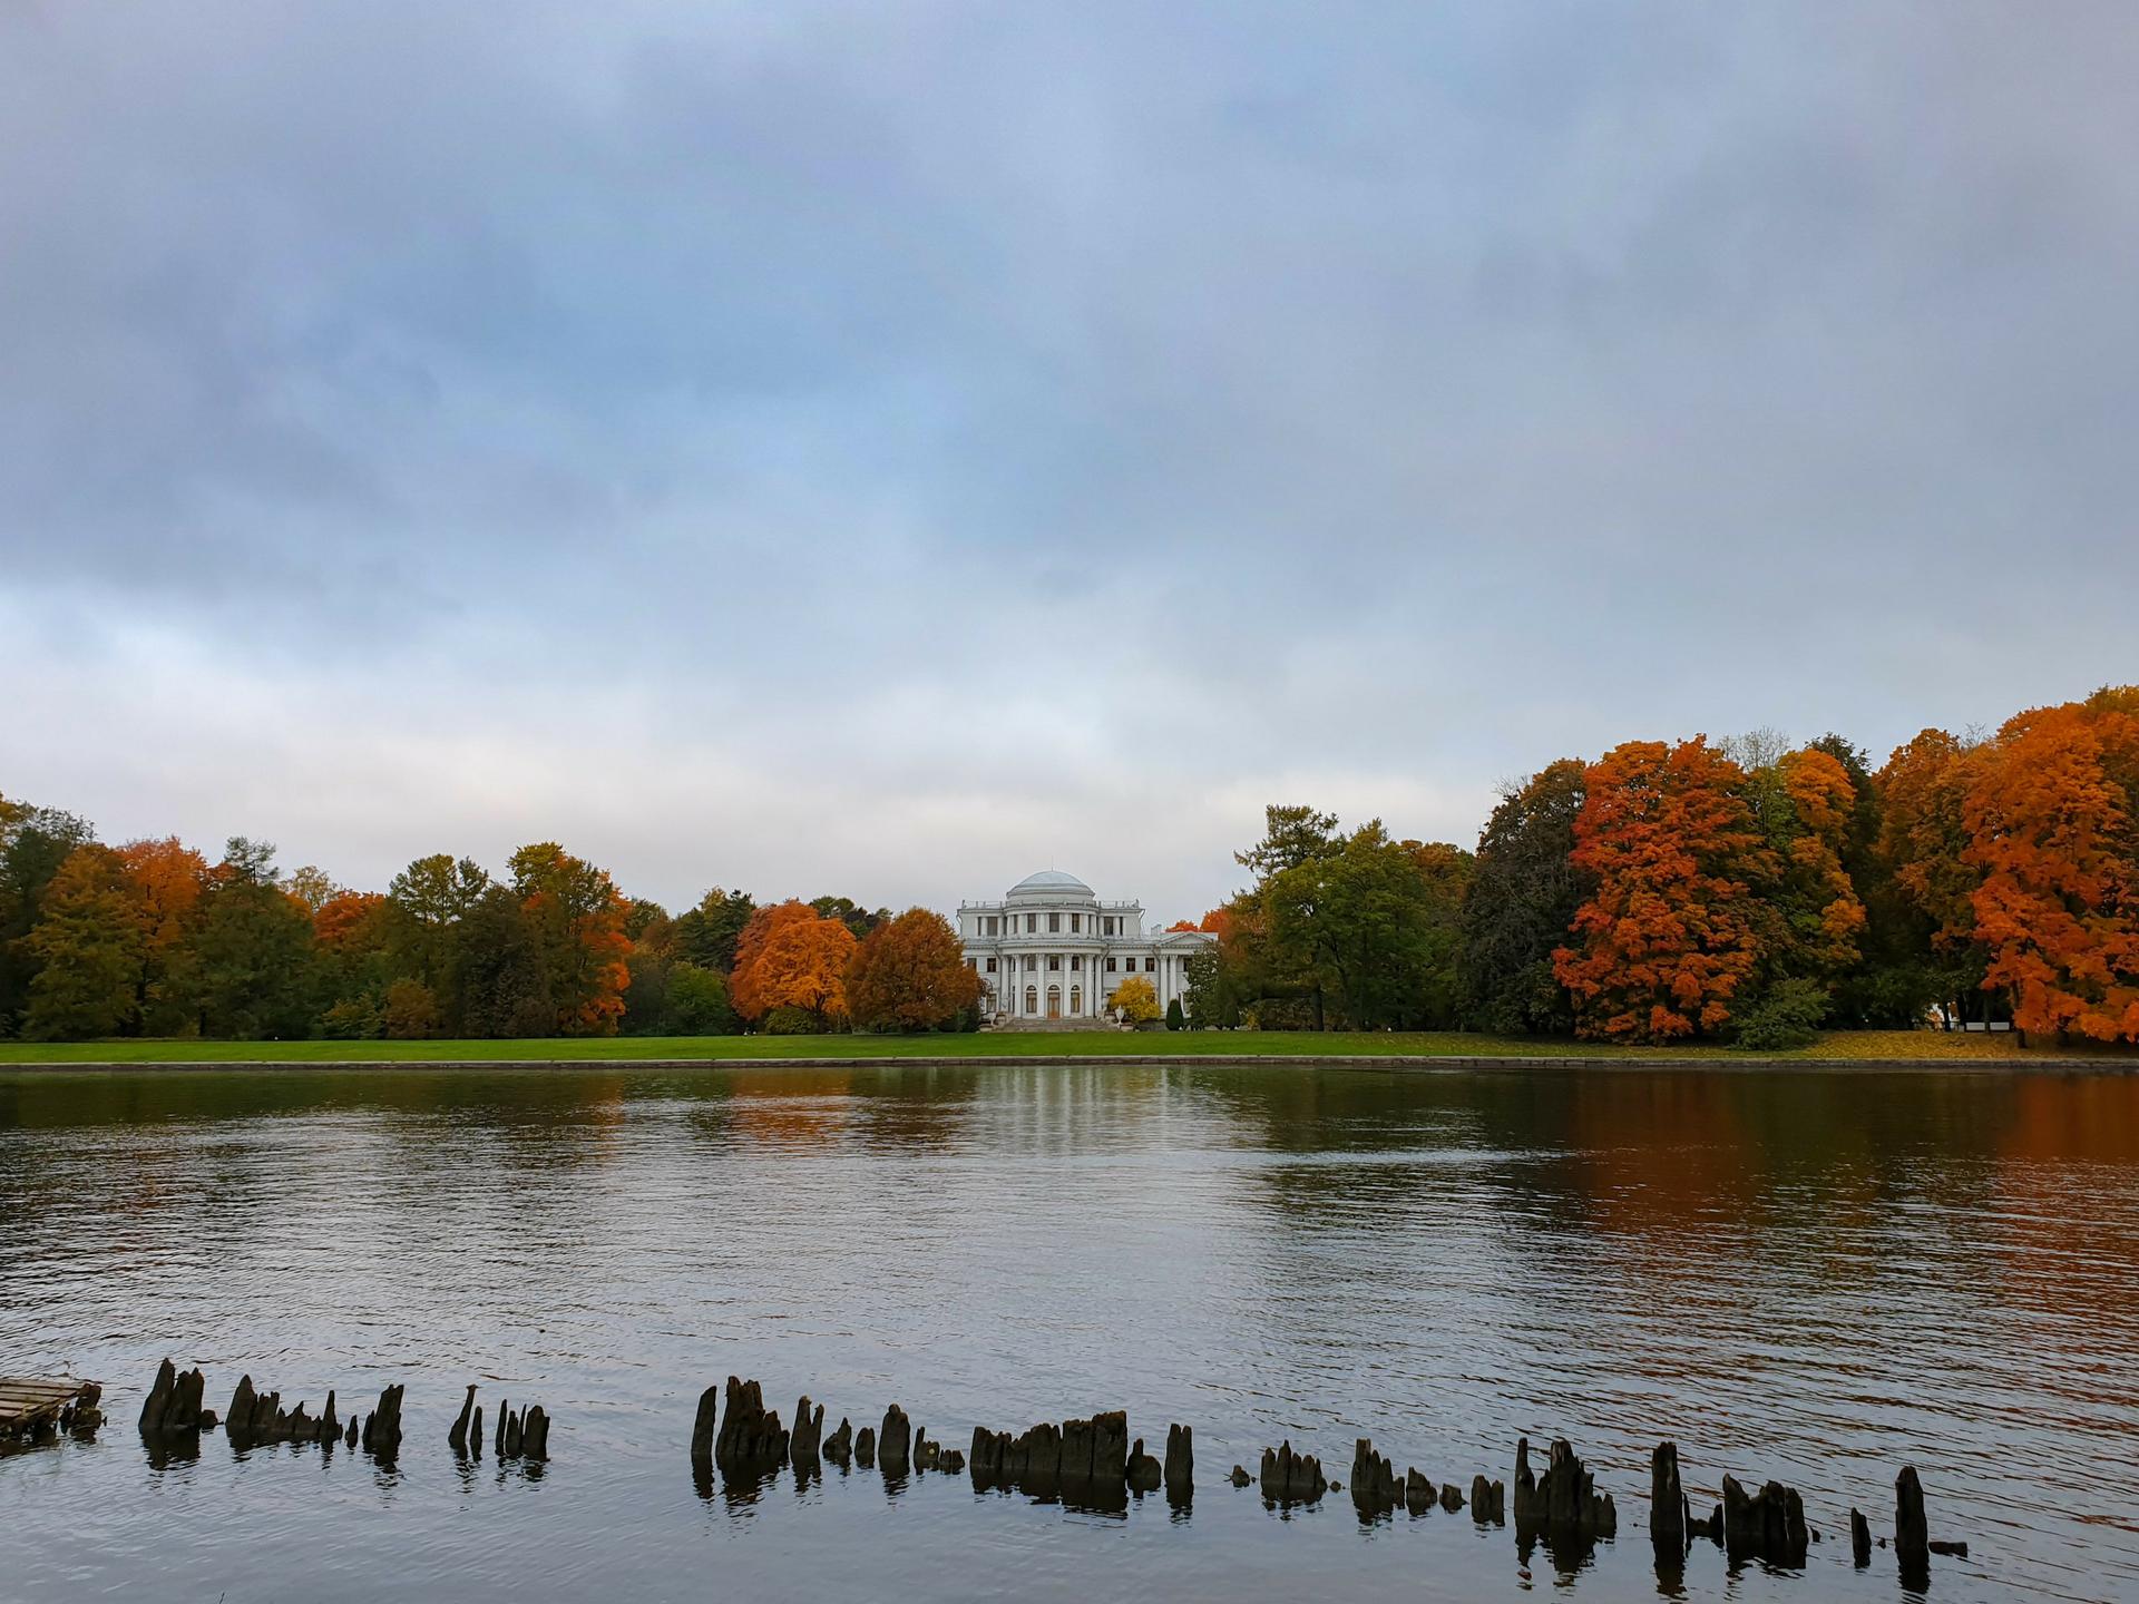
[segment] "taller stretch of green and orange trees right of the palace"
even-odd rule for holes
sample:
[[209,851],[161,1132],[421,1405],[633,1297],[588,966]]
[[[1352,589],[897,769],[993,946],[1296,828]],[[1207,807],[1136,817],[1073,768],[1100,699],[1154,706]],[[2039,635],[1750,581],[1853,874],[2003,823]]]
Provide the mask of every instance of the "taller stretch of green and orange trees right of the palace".
[[1273,806],[1236,860],[1206,1024],[2139,1042],[2139,687],[1878,770],[1833,734],[1634,740],[1508,785],[1476,851]]

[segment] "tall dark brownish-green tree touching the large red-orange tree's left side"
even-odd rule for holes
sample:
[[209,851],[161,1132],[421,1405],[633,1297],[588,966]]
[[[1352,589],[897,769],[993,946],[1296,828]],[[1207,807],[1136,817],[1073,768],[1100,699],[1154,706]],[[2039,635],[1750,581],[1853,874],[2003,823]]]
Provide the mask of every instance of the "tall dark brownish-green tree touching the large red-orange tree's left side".
[[1574,1029],[1574,1001],[1553,973],[1574,911],[1596,881],[1574,866],[1574,819],[1587,768],[1564,757],[1499,793],[1463,892],[1463,1014],[1510,1033]]

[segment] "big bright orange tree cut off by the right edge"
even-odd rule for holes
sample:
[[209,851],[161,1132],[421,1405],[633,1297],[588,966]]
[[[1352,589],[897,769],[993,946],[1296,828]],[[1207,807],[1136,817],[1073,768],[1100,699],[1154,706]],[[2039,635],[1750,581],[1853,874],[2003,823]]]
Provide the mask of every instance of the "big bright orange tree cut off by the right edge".
[[2009,721],[1964,819],[1983,984],[2013,1024],[2139,1042],[2139,687]]

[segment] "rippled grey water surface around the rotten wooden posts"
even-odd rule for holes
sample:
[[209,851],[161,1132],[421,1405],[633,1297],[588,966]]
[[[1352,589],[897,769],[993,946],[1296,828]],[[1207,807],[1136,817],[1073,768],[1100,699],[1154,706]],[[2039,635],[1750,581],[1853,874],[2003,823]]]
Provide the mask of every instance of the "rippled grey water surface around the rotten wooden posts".
[[[629,1067],[0,1071],[0,1373],[107,1384],[94,1444],[0,1459],[0,1598],[2139,1598],[2139,1078],[1936,1071]],[[152,1463],[156,1360],[406,1441]],[[877,1471],[702,1486],[699,1390],[930,1437],[1125,1407],[1196,1429],[1187,1512]],[[462,1388],[554,1416],[460,1465]],[[1226,1484],[1510,1480],[1564,1435],[1619,1538]],[[1649,1448],[1696,1512],[1803,1491],[1801,1572],[1656,1572]]]

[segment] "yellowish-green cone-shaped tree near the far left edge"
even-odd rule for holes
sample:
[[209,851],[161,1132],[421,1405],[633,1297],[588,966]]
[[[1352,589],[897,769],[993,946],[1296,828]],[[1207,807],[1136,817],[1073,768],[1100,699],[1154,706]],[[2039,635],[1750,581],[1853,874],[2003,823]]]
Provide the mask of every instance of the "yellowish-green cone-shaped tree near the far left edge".
[[145,937],[130,890],[126,864],[109,847],[88,843],[60,862],[24,937],[36,962],[26,1037],[103,1037],[135,1022]]

